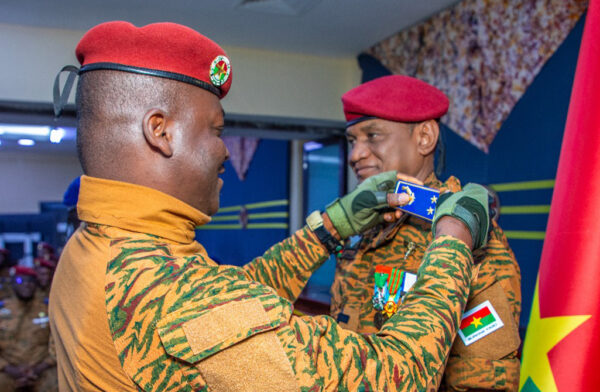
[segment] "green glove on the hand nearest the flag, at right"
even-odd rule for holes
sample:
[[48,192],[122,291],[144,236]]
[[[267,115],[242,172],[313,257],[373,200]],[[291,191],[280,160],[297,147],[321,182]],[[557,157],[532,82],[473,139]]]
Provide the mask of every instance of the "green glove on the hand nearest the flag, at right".
[[462,191],[440,195],[431,231],[435,237],[436,223],[443,216],[452,216],[467,226],[473,239],[473,250],[487,243],[490,229],[489,194],[478,184],[467,184]]

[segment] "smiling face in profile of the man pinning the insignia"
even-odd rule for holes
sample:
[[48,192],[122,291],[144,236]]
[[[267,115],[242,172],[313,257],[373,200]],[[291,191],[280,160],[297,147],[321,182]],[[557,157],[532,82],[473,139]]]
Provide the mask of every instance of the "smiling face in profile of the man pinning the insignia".
[[173,194],[207,215],[219,209],[219,193],[229,152],[221,139],[223,108],[217,96],[193,88],[175,125],[171,167],[177,189]]

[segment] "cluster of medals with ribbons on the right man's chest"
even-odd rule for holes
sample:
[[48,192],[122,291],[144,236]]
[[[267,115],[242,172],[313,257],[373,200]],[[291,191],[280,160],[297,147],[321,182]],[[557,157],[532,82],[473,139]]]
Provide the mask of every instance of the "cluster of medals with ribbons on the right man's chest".
[[417,276],[399,268],[378,265],[375,267],[374,278],[375,325],[381,328],[383,323],[398,311],[402,298],[415,283]]

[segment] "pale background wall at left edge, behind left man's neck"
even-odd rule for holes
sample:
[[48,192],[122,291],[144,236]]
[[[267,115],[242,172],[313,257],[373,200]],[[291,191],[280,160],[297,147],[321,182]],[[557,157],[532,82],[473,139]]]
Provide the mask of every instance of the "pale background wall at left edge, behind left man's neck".
[[81,175],[76,154],[0,152],[0,214],[38,213]]

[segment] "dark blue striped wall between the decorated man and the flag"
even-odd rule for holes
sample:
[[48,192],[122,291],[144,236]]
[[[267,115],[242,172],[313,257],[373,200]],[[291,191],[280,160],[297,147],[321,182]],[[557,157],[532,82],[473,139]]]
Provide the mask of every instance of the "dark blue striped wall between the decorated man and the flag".
[[[442,125],[447,154],[441,177],[499,184],[500,226],[521,266],[522,330],[531,311],[584,22],[585,15],[542,68],[502,124],[489,154]],[[366,55],[358,63],[363,81],[390,73]]]

